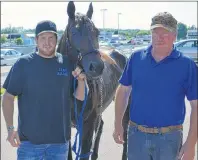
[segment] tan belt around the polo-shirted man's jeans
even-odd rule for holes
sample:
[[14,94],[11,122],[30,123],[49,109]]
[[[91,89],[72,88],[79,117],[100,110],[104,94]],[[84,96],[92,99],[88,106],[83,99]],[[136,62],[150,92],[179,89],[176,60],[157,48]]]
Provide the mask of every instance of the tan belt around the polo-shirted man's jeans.
[[167,133],[173,130],[180,130],[183,129],[182,125],[176,125],[176,126],[167,126],[167,127],[161,127],[161,128],[148,128],[143,125],[138,125],[135,122],[129,121],[129,125],[136,126],[138,130],[145,132],[145,133]]

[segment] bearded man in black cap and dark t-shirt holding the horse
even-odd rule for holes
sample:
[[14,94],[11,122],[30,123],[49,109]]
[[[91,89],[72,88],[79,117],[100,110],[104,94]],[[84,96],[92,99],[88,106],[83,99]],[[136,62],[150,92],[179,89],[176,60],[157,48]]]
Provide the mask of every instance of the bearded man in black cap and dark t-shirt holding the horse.
[[[71,100],[84,100],[85,75],[72,71],[66,56],[56,52],[57,29],[52,21],[36,26],[38,52],[20,58],[3,87],[2,109],[7,140],[17,159],[67,160],[71,137]],[[78,76],[76,94],[73,78]],[[85,80],[85,83],[84,83]],[[88,86],[87,86],[88,87]],[[18,96],[18,130],[13,124],[14,97]]]

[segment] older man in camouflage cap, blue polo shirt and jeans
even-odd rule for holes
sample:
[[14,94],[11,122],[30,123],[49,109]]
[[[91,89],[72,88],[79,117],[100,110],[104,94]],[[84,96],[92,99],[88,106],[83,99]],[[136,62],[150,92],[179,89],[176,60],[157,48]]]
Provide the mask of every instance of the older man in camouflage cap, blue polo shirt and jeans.
[[[177,20],[158,13],[151,23],[152,44],[135,51],[116,92],[116,143],[123,143],[122,118],[131,93],[128,160],[193,160],[197,142],[197,66],[174,48]],[[191,120],[183,144],[185,96]],[[183,144],[183,145],[182,145]]]

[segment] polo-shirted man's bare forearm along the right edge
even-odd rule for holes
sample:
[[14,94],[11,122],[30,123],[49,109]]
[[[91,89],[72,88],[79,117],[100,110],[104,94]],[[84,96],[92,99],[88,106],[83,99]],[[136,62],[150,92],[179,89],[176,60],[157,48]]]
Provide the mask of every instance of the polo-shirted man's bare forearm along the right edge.
[[186,142],[188,145],[195,147],[197,143],[197,100],[190,101],[191,115],[190,115],[190,128]]

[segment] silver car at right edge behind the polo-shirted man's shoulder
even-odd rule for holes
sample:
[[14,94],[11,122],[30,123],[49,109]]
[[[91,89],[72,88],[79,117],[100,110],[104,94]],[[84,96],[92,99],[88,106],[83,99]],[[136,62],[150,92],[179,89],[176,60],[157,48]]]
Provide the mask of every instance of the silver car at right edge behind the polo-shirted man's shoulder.
[[198,63],[198,39],[185,39],[175,43],[177,50]]

